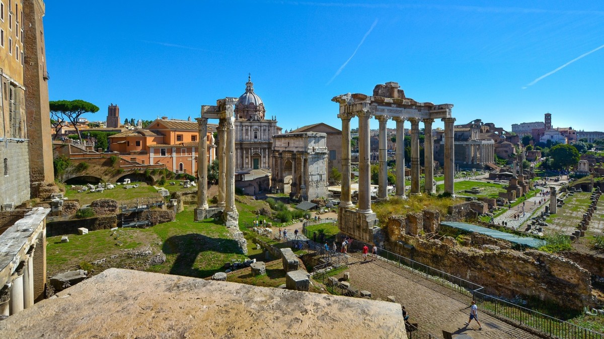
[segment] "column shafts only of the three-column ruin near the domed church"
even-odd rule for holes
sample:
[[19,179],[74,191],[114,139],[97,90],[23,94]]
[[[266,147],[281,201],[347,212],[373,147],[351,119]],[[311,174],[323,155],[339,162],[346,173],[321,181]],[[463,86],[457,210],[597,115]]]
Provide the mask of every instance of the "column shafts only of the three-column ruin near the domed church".
[[[199,127],[198,157],[198,209],[208,209],[208,155],[207,134],[208,119],[196,118]],[[225,116],[219,119],[217,133],[218,159],[218,207],[226,212],[237,211],[235,206],[235,138],[234,118]]]

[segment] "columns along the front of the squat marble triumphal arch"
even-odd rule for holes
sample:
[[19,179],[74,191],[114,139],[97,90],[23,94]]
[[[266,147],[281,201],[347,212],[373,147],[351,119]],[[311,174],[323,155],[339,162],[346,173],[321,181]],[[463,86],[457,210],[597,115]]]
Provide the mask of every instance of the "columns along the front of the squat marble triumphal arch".
[[[283,152],[278,152],[273,150],[272,154],[272,168],[273,168],[273,182],[277,183],[277,188],[280,189],[281,192],[284,192],[284,180],[285,175],[283,173],[283,165],[286,161],[292,162],[292,183],[290,185],[291,191],[289,193],[290,197],[298,198],[300,197],[302,200],[306,200],[308,196],[306,191],[306,176],[308,171],[308,156],[304,153],[299,153],[293,151],[291,155],[283,154]],[[300,166],[298,166],[298,163]],[[298,187],[298,168],[300,168],[301,173],[300,178],[300,186]],[[278,169],[278,170],[277,170]]]

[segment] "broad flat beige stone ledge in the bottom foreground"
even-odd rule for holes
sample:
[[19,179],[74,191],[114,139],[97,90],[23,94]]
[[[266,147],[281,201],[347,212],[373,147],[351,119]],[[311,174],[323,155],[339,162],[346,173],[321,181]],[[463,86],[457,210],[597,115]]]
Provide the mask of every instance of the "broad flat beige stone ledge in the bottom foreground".
[[406,338],[397,303],[120,268],[57,296],[0,322],[0,337]]

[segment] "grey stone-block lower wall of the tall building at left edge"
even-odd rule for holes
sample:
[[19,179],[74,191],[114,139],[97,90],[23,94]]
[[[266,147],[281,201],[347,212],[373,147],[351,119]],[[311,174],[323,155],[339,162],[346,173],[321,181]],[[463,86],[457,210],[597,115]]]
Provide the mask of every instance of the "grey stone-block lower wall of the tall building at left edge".
[[[6,144],[1,138],[0,141],[0,206],[8,203],[18,206],[30,199],[28,141],[8,139]],[[7,176],[4,175],[4,159],[7,159]]]

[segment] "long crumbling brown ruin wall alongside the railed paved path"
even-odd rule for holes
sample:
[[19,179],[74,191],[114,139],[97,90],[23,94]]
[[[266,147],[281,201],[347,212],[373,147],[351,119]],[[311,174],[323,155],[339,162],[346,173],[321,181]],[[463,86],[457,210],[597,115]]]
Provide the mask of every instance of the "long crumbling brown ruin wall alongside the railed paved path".
[[457,246],[455,241],[410,235],[401,235],[399,240],[388,241],[387,249],[480,284],[484,293],[509,298],[533,296],[577,310],[591,302],[590,273],[561,256],[496,247],[483,251]]

